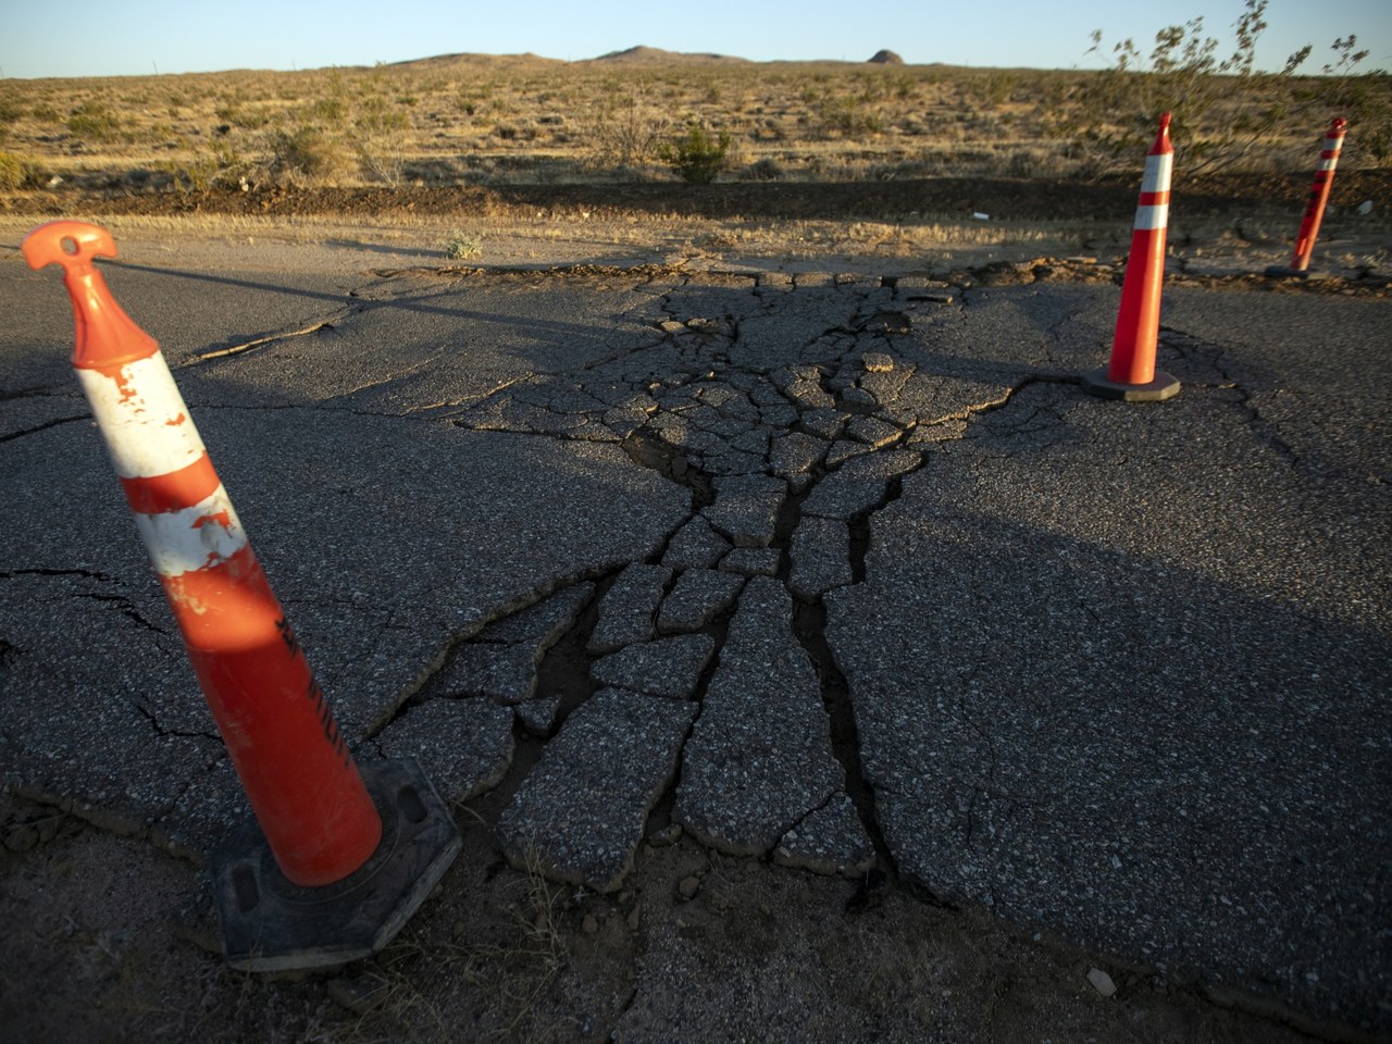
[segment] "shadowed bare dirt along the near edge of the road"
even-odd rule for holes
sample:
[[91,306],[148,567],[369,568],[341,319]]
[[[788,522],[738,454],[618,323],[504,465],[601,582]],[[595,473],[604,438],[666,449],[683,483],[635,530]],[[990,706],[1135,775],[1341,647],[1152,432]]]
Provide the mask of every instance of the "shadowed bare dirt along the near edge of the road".
[[1343,1038],[1304,1025],[1307,1036],[1258,998],[935,906],[877,871],[825,878],[654,838],[617,895],[562,888],[504,863],[489,824],[508,788],[458,810],[464,853],[391,947],[342,970],[281,977],[231,972],[209,952],[216,933],[196,867],[4,799],[0,1037]]

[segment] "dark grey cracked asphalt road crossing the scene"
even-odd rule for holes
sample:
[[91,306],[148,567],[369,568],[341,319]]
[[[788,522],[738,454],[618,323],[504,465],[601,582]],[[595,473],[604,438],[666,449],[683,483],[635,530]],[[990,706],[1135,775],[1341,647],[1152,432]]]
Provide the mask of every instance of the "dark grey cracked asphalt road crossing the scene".
[[[359,757],[525,771],[509,857],[878,863],[1392,1029],[1385,301],[1168,291],[1126,406],[1114,287],[104,270]],[[245,809],[61,283],[0,301],[4,782],[196,855]]]

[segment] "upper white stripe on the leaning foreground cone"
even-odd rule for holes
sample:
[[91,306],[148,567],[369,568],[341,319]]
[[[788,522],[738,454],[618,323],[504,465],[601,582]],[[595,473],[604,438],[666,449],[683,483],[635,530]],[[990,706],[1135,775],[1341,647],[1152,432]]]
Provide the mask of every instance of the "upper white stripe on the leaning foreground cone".
[[74,369],[122,479],[148,479],[187,468],[203,455],[184,397],[160,352],[114,376]]

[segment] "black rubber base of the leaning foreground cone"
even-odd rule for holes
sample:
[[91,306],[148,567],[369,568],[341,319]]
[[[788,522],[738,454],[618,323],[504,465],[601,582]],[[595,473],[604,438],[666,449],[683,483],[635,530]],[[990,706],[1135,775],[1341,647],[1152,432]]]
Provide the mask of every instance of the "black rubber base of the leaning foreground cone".
[[213,853],[227,963],[242,972],[345,965],[386,947],[459,853],[450,810],[413,759],[359,766],[381,814],[366,863],[322,888],[291,884],[255,820]]

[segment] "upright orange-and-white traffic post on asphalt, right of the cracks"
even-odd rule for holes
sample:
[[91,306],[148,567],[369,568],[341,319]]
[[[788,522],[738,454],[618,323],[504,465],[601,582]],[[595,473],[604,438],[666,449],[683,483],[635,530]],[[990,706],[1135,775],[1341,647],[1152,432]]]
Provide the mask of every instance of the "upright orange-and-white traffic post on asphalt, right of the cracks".
[[1179,381],[1155,369],[1160,340],[1160,294],[1165,280],[1165,234],[1169,227],[1169,181],[1175,149],[1169,143],[1169,113],[1146,156],[1140,203],[1132,226],[1130,255],[1116,313],[1111,362],[1083,374],[1094,395],[1130,402],[1160,401],[1179,393]]

